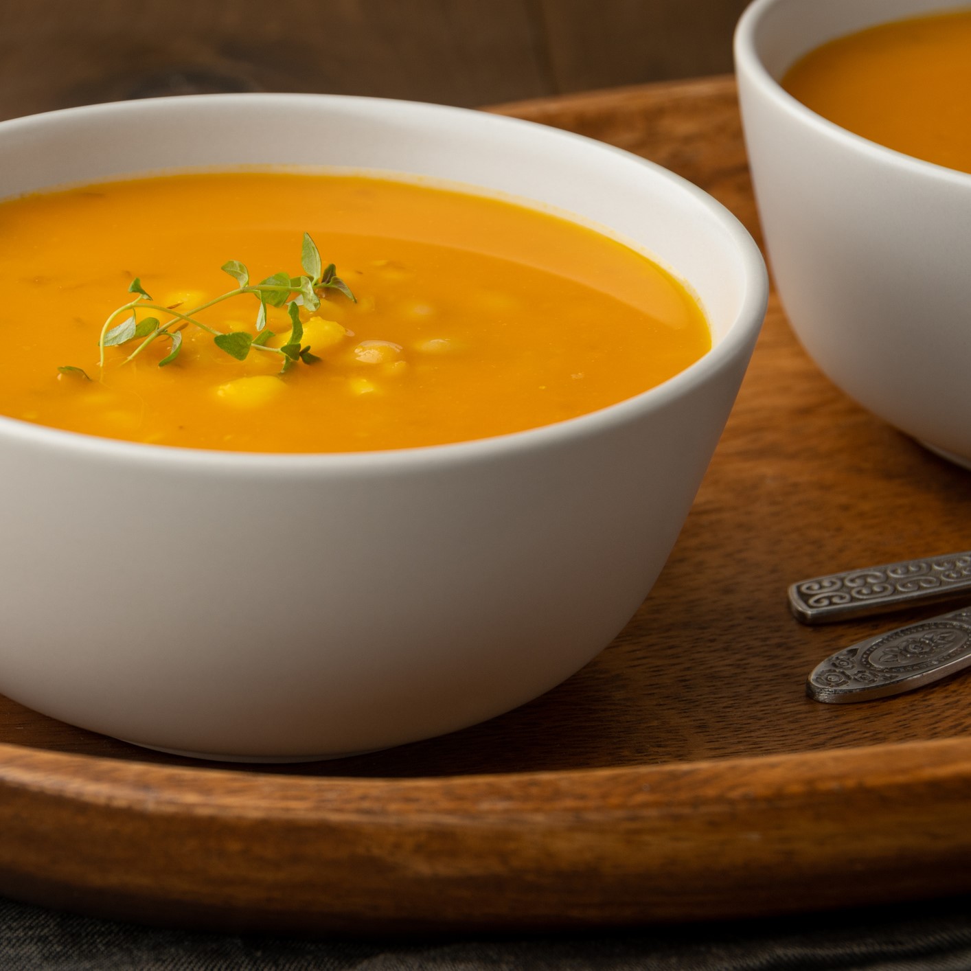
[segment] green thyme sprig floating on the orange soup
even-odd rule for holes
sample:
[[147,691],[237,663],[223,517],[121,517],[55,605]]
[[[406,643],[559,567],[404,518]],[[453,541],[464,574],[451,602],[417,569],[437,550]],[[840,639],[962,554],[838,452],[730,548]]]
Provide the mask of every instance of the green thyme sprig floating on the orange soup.
[[[311,313],[320,306],[320,300],[326,290],[336,290],[353,303],[356,298],[351,288],[337,276],[333,263],[323,266],[317,245],[309,233],[303,235],[303,247],[300,252],[300,265],[303,274],[291,277],[285,272],[274,273],[261,280],[258,284],[250,283],[250,271],[244,263],[231,259],[222,264],[221,269],[232,277],[238,284],[231,290],[199,304],[197,307],[183,310],[182,304],[166,307],[157,303],[151,294],[136,277],[128,286],[128,292],[135,297],[113,311],[105,320],[98,338],[98,365],[105,366],[105,350],[139,341],[135,349],[125,357],[122,363],[134,360],[144,353],[157,340],[170,342],[169,352],[158,362],[159,367],[171,364],[182,351],[185,327],[194,326],[212,334],[213,341],[220,351],[226,352],[237,360],[246,360],[250,352],[257,351],[280,354],[283,357],[281,373],[285,374],[294,364],[302,361],[305,364],[315,364],[320,359],[311,353],[310,347],[302,346],[303,324],[300,321],[300,308],[304,307]],[[200,320],[197,315],[210,307],[214,307],[231,297],[243,296],[251,293],[256,297],[258,308],[256,311],[255,336],[245,330],[218,330],[216,327]],[[271,348],[268,341],[276,337],[272,330],[266,328],[267,307],[287,307],[290,317],[290,333],[287,343],[280,348]],[[139,318],[142,311],[151,310],[158,316]],[[127,315],[127,316],[125,316]],[[119,322],[116,322],[120,319]],[[163,323],[162,320],[165,322]],[[81,368],[66,365],[58,368],[63,374],[74,374],[88,378]],[[88,378],[88,380],[90,380]]]

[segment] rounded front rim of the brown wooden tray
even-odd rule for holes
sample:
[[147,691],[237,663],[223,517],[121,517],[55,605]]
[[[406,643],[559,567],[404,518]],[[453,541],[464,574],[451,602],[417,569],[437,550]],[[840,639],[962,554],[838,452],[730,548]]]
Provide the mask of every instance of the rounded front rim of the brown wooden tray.
[[231,932],[751,918],[968,892],[969,804],[965,738],[417,779],[0,744],[0,893]]

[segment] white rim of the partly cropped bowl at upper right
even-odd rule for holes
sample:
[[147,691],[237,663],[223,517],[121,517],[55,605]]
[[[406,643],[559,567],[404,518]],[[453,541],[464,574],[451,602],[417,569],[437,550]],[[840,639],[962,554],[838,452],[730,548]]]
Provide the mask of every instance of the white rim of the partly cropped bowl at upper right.
[[[852,2],[852,0],[843,0]],[[955,10],[968,9],[966,0],[933,0],[944,6],[935,7],[924,13],[928,17],[935,14],[947,14]],[[776,108],[783,111],[790,117],[800,121],[803,125],[816,131],[823,138],[835,143],[847,151],[862,154],[870,160],[883,165],[890,165],[902,171],[913,173],[918,177],[936,179],[941,182],[951,183],[961,186],[964,189],[971,188],[971,173],[960,172],[957,169],[949,169],[945,165],[938,165],[937,162],[929,162],[926,159],[918,158],[915,155],[908,155],[906,152],[890,149],[886,145],[874,142],[862,135],[857,135],[849,128],[844,128],[835,121],[814,112],[808,108],[798,98],[788,93],[768,71],[758,52],[755,35],[765,17],[778,7],[789,6],[795,9],[800,5],[800,0],[753,0],[752,3],[743,11],[735,26],[735,34],[732,42],[735,57],[735,71],[739,78],[744,77],[750,81],[755,88],[766,98],[768,98]],[[914,17],[921,17],[920,12],[916,12]],[[882,23],[893,23],[896,20],[909,19],[905,17],[888,17],[883,20],[876,20],[870,26],[879,26]],[[868,29],[867,27],[860,28]],[[848,34],[837,34],[837,37],[850,36],[857,31],[849,31]],[[827,42],[822,42],[827,43]],[[804,51],[809,53],[817,50],[819,44]],[[803,56],[802,54],[800,56]],[[791,66],[791,65],[789,65]]]

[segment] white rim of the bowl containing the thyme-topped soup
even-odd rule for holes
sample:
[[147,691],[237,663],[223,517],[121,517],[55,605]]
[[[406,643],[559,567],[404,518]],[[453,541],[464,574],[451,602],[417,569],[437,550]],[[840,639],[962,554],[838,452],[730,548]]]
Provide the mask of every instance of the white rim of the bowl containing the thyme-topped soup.
[[[29,133],[32,128],[56,125],[65,119],[123,115],[132,111],[138,111],[140,114],[167,112],[173,109],[180,110],[183,107],[191,110],[193,106],[214,103],[226,107],[245,106],[255,101],[265,103],[273,100],[277,100],[284,107],[287,104],[299,102],[316,102],[345,108],[353,108],[355,104],[373,106],[375,103],[383,103],[394,106],[395,109],[413,112],[415,116],[437,114],[451,115],[455,120],[475,118],[475,123],[485,127],[492,125],[506,129],[521,126],[534,133],[541,132],[543,137],[553,143],[556,141],[564,145],[579,143],[596,151],[614,152],[624,156],[651,172],[654,179],[666,182],[676,191],[689,196],[695,204],[707,210],[720,224],[720,228],[725,232],[738,256],[739,279],[742,284],[739,310],[734,320],[725,328],[720,340],[713,343],[708,352],[660,385],[572,419],[488,438],[371,452],[231,452],[103,438],[0,415],[0,443],[6,440],[22,447],[34,447],[45,451],[58,450],[79,457],[117,461],[129,465],[154,466],[161,463],[185,468],[245,470],[257,474],[352,473],[401,465],[424,467],[476,462],[492,459],[503,453],[546,451],[570,439],[594,437],[638,419],[645,413],[659,411],[670,402],[689,393],[693,388],[712,380],[723,368],[746,352],[757,336],[768,299],[768,272],[761,251],[738,218],[703,189],[648,159],[584,135],[548,127],[534,121],[448,105],[363,95],[242,92],[116,101],[10,118],[0,121],[0,140],[8,137],[8,133]],[[167,171],[179,170],[168,169]],[[50,186],[51,189],[54,187]],[[523,198],[528,202],[527,198]]]

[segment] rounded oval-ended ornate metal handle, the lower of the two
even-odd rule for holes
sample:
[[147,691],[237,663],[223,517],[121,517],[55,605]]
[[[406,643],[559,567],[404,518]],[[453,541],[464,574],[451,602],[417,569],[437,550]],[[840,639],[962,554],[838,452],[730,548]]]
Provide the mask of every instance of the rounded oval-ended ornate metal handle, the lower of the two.
[[898,627],[827,657],[806,693],[845,704],[902,694],[971,667],[971,610]]

